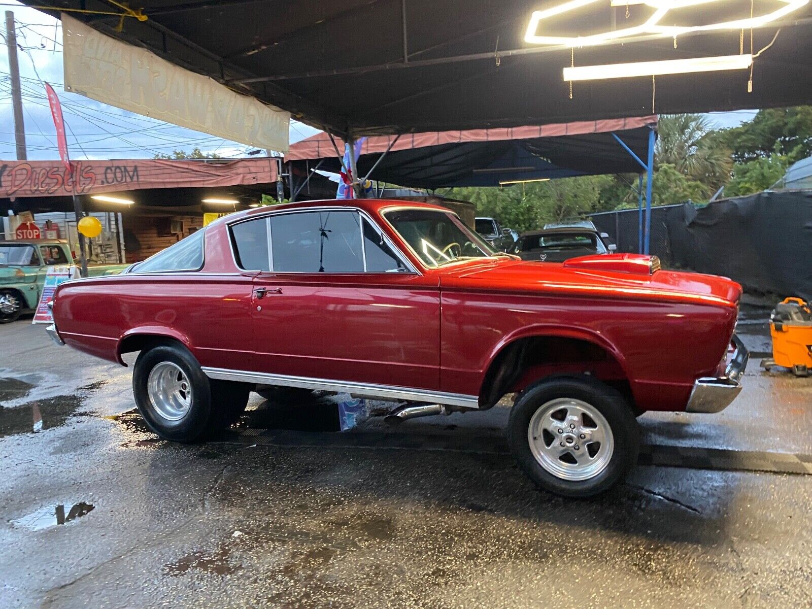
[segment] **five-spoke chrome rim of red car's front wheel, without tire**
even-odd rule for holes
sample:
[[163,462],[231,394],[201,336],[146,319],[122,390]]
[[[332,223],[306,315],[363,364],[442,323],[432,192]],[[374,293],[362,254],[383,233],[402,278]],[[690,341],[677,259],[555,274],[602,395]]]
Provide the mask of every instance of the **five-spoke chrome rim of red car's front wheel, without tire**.
[[572,398],[542,404],[530,419],[527,440],[542,468],[571,482],[598,476],[615,451],[611,427],[603,414]]

